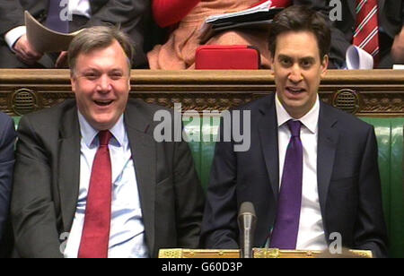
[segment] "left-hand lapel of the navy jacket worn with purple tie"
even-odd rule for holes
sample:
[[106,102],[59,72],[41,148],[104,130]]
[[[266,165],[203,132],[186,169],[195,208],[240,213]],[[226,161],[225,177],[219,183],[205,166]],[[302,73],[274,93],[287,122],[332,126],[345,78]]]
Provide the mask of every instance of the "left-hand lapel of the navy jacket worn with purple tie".
[[259,139],[272,192],[277,204],[277,194],[279,189],[279,153],[277,145],[277,112],[275,109],[275,93],[265,106],[260,108],[263,116],[259,120]]

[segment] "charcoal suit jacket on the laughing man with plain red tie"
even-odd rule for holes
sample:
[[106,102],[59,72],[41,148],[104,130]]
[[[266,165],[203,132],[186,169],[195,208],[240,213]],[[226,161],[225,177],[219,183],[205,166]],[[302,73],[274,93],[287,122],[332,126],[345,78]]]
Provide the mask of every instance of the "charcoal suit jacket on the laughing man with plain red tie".
[[[61,257],[59,237],[69,232],[80,172],[80,130],[75,100],[23,116],[18,128],[12,200],[15,249],[22,257]],[[149,253],[198,247],[204,194],[186,142],[155,142],[154,113],[161,107],[129,100],[124,120]]]

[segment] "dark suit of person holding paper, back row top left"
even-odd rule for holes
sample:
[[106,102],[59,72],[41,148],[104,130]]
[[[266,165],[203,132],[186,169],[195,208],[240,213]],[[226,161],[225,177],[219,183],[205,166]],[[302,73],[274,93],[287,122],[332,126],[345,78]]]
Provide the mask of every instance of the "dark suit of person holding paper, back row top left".
[[[145,16],[150,13],[150,3],[145,0],[91,0],[92,17],[84,27],[105,23],[119,24],[133,39],[136,55],[134,65],[144,65],[143,51]],[[8,30],[24,25],[23,11],[28,10],[37,20],[44,22],[47,17],[48,0],[2,0],[0,1],[0,44]]]

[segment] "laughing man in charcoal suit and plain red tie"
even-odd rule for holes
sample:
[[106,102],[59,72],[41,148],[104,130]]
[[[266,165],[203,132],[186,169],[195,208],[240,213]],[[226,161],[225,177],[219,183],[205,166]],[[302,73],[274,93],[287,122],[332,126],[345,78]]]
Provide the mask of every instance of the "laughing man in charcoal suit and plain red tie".
[[204,194],[189,146],[154,139],[154,114],[165,109],[128,99],[130,56],[121,31],[83,30],[69,48],[75,100],[22,117],[16,254],[156,257],[159,248],[198,246]]

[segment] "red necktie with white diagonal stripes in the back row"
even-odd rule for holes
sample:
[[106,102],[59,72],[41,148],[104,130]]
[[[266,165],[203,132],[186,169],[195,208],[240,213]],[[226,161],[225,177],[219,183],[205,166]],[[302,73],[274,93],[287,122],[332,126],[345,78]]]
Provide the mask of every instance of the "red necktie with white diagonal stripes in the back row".
[[379,22],[377,0],[356,0],[356,30],[354,45],[373,56],[374,65],[379,61]]

